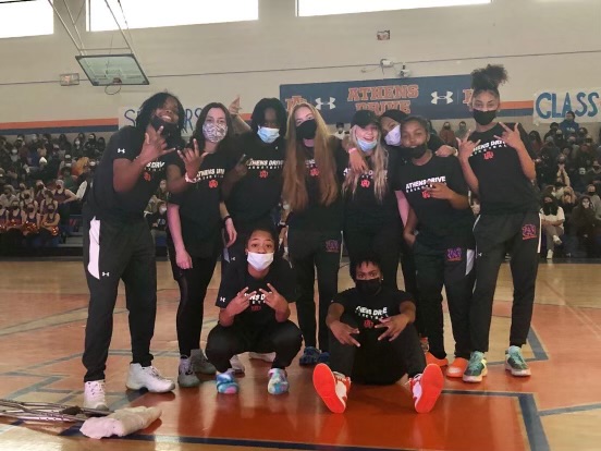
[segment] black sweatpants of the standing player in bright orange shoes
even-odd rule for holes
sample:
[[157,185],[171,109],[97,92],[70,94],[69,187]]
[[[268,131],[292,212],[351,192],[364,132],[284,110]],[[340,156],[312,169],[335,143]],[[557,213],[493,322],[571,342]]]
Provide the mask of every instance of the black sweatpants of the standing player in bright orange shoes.
[[437,358],[446,357],[442,315],[444,287],[455,339],[455,356],[469,358],[469,307],[476,277],[474,249],[459,246],[439,251],[417,241],[413,251],[430,353]]

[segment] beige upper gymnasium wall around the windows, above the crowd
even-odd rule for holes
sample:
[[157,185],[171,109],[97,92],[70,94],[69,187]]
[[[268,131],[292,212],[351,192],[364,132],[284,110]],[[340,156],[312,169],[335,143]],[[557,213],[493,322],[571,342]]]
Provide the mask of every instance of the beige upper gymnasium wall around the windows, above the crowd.
[[[66,1],[73,9],[82,4]],[[279,97],[280,84],[395,77],[392,69],[382,74],[377,68],[382,58],[405,62],[412,76],[466,74],[503,63],[511,77],[502,89],[505,101],[531,101],[541,88],[599,85],[600,0],[494,0],[321,17],[296,17],[295,0],[260,0],[259,8],[254,22],[132,31],[151,84],[113,96],[87,82],[60,22],[52,36],[0,39],[0,133],[75,131],[77,124],[110,131],[120,108],[163,89],[189,106],[229,103],[240,94],[249,112],[261,97]],[[390,41],[376,39],[381,29],[391,31]],[[119,32],[86,33],[83,19],[79,31],[86,47],[124,44]],[[79,72],[81,85],[61,87],[58,77],[65,72]],[[531,126],[530,118],[519,119]]]

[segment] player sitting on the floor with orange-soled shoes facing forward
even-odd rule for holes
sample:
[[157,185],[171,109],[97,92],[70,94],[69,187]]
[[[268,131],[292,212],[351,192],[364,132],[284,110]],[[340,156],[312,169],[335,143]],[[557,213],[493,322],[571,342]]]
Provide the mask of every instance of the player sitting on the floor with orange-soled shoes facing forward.
[[382,285],[375,257],[352,263],[356,288],[332,301],[326,324],[330,329],[330,366],[318,364],[314,386],[328,409],[342,413],[357,383],[392,385],[405,374],[415,410],[430,412],[443,386],[442,370],[426,365],[426,356],[413,325],[415,304],[403,291]]

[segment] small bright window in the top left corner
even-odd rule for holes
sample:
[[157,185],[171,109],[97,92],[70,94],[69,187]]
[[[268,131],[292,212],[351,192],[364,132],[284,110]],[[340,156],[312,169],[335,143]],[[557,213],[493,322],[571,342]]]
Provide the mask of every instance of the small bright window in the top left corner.
[[54,11],[47,0],[0,2],[0,38],[54,33]]

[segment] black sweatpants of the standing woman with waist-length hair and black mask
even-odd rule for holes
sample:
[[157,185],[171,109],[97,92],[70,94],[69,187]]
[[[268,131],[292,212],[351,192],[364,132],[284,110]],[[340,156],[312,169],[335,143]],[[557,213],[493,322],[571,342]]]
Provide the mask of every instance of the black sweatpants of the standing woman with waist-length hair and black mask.
[[341,232],[320,232],[289,228],[289,255],[296,273],[298,298],[296,312],[305,346],[317,348],[318,324],[315,317],[315,271],[319,293],[319,349],[328,351],[329,338],[326,317],[328,307],[338,293]]

